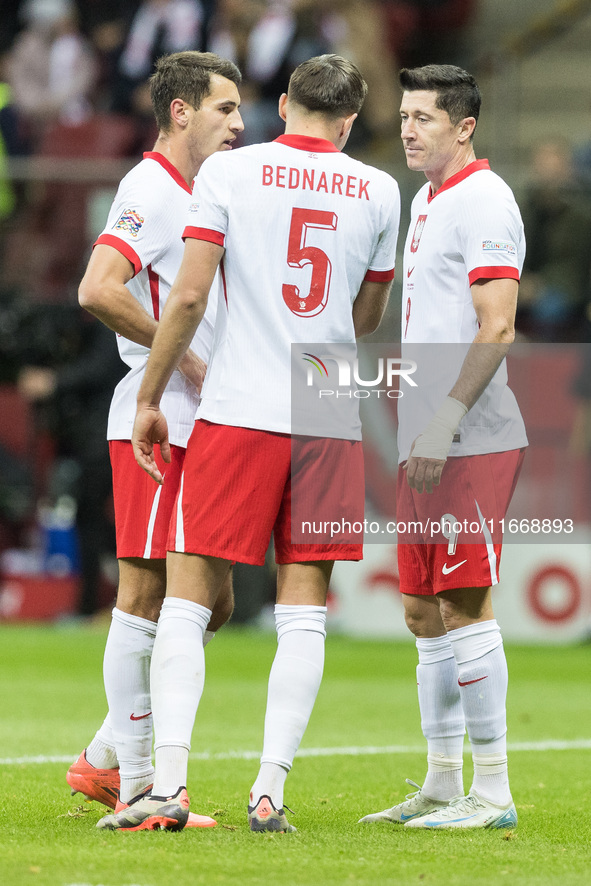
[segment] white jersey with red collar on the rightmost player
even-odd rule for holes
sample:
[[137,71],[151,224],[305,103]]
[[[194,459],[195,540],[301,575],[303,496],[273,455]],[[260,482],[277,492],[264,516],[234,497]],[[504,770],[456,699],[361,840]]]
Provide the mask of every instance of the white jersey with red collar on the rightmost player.
[[[487,160],[451,176],[434,195],[427,182],[415,196],[404,247],[401,339],[403,356],[417,363],[418,386],[398,401],[400,461],[449,394],[478,331],[471,285],[491,278],[519,280],[524,258],[519,208]],[[503,361],[460,422],[449,454],[526,445]]]

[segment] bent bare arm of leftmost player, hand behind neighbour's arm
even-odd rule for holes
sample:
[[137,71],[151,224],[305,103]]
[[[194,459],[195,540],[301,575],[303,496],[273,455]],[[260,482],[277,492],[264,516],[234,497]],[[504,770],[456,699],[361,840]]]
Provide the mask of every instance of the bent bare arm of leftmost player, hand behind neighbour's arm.
[[[129,341],[151,348],[158,321],[133,297],[126,283],[134,267],[118,249],[106,243],[95,246],[78,288],[78,301],[105,326]],[[178,368],[200,390],[206,365],[188,350]]]

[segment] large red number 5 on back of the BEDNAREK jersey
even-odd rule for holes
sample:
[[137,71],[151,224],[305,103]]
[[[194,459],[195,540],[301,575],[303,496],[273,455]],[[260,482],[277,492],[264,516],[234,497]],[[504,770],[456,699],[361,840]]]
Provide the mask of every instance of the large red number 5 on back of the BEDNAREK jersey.
[[336,231],[337,216],[334,212],[320,209],[294,209],[291,213],[287,264],[290,268],[303,268],[312,265],[310,291],[302,295],[297,286],[283,284],[283,301],[292,313],[299,317],[315,317],[326,307],[332,265],[322,249],[306,246],[309,228],[324,228]]

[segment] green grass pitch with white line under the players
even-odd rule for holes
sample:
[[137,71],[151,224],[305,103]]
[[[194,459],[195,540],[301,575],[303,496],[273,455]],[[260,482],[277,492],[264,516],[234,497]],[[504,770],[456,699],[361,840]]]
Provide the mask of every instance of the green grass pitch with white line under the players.
[[[239,628],[208,647],[189,794],[218,826],[101,832],[96,803],[65,772],[105,714],[104,626],[0,627],[0,882],[185,884],[556,884],[591,880],[591,646],[507,648],[513,833],[358,825],[420,782],[425,752],[412,643],[329,637],[325,676],[286,786],[293,835],[251,834],[275,638]],[[465,787],[471,764],[465,758]]]

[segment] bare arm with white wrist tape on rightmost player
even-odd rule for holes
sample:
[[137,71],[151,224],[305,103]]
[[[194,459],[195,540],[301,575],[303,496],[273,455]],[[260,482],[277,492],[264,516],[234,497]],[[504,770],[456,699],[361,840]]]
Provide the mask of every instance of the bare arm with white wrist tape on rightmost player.
[[432,492],[438,486],[464,415],[493,378],[515,338],[518,282],[512,278],[483,279],[471,286],[480,328],[445,402],[414,442],[405,465],[409,486]]

